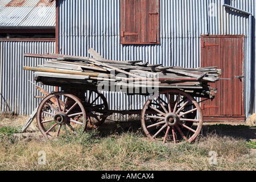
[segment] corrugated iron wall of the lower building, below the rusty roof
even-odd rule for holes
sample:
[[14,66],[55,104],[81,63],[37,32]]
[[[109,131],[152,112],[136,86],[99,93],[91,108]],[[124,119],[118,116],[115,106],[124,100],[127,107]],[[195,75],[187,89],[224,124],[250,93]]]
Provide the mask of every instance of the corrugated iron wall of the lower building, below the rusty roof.
[[[23,66],[36,67],[44,59],[24,57],[24,53],[55,53],[55,42],[2,41],[0,42],[0,113],[14,111],[30,115],[40,104],[42,96],[35,88],[34,74],[23,71]],[[31,81],[31,82],[30,82]],[[43,86],[48,92],[52,86]]]

